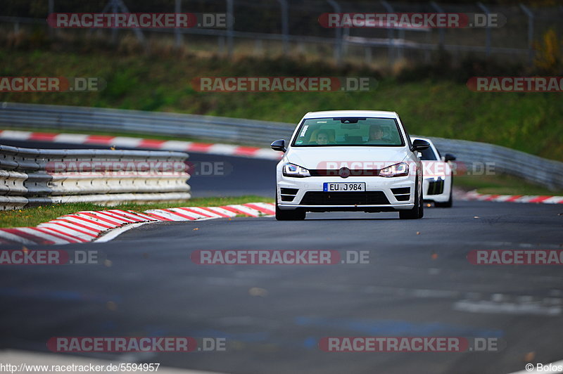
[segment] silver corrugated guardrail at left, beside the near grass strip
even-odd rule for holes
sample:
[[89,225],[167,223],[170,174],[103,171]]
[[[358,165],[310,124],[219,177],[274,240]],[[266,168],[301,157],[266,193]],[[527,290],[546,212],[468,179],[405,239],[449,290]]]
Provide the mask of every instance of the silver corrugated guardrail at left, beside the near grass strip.
[[169,151],[0,145],[0,210],[61,202],[187,200],[191,197],[187,157]]

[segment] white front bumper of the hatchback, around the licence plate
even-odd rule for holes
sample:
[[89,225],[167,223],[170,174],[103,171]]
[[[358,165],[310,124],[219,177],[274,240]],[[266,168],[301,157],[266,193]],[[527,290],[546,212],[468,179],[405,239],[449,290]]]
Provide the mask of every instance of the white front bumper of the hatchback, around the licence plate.
[[[323,183],[363,182],[365,192],[324,192]],[[392,212],[415,206],[415,176],[278,176],[279,209],[305,209],[308,212]]]

